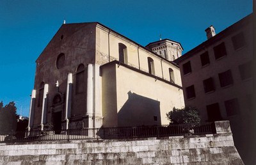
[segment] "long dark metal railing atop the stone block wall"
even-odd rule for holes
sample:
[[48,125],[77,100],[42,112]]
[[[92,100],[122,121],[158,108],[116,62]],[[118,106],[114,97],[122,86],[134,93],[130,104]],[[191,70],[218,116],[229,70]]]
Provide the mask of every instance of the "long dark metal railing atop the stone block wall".
[[214,123],[189,123],[179,125],[111,127],[80,130],[32,130],[16,132],[0,142],[19,141],[69,141],[81,139],[132,139],[167,136],[189,136],[216,133]]

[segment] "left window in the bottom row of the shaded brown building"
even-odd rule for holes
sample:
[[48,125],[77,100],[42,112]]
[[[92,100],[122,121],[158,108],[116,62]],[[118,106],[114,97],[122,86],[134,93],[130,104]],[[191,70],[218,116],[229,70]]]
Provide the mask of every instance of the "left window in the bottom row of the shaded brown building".
[[206,106],[206,109],[209,122],[222,120],[218,103],[210,104]]

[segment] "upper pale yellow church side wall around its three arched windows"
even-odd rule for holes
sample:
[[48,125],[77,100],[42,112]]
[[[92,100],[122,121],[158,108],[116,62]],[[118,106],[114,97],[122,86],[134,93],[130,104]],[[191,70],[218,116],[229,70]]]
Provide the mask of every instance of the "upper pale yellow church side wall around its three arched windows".
[[118,61],[118,43],[123,43],[127,47],[127,64],[129,66],[140,68],[140,70],[148,72],[148,57],[150,57],[154,60],[154,75],[170,81],[168,70],[169,68],[172,68],[175,74],[175,84],[181,86],[179,67],[176,67],[172,63],[165,61],[159,56],[156,56],[154,53],[148,51],[147,49],[139,47],[138,44],[127,40],[126,38],[114,33],[113,31],[109,32],[109,29],[99,25],[96,28],[96,63],[102,65],[104,63],[108,63],[109,61]]

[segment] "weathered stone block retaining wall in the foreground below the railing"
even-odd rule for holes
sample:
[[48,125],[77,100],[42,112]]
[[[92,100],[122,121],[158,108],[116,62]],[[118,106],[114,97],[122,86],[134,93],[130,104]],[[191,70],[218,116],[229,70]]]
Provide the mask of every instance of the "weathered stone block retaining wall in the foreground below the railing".
[[162,139],[0,143],[0,164],[243,164],[228,122],[217,134]]

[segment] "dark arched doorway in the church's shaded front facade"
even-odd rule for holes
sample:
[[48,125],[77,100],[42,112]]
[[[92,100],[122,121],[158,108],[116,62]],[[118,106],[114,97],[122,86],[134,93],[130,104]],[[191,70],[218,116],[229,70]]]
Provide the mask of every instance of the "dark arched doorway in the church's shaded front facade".
[[56,93],[56,95],[52,99],[51,108],[52,108],[53,130],[55,131],[55,134],[60,134],[62,116],[63,116],[63,110],[64,110],[63,94]]

